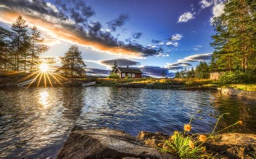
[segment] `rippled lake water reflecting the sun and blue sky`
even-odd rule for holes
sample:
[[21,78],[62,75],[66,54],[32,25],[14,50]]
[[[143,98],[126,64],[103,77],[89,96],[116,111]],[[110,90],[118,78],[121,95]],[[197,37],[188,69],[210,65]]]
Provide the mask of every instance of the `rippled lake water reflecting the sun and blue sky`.
[[238,132],[256,132],[256,100],[212,91],[90,88],[0,90],[0,158],[55,158],[74,125],[109,127],[132,135],[183,129],[190,114],[202,110],[193,131],[210,132],[238,120]]

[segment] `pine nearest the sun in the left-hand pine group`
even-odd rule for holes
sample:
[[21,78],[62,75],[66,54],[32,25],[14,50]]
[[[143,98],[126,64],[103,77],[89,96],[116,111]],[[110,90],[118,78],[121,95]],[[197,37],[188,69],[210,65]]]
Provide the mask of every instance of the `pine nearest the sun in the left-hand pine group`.
[[41,38],[41,32],[37,29],[36,26],[33,26],[30,29],[31,29],[31,34],[30,34],[31,67],[30,69],[32,70],[34,63],[37,60],[39,60],[39,55],[46,52],[49,49],[49,47],[42,44],[44,39]]

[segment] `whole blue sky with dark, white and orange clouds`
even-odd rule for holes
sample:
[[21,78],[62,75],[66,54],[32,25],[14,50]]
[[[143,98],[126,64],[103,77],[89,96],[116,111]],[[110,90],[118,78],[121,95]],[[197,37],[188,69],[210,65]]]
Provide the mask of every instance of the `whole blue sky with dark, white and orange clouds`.
[[42,56],[57,60],[78,45],[87,74],[107,75],[117,61],[143,75],[166,70],[173,77],[211,59],[211,21],[223,10],[221,0],[0,0],[0,26],[10,30],[23,16],[50,47]]

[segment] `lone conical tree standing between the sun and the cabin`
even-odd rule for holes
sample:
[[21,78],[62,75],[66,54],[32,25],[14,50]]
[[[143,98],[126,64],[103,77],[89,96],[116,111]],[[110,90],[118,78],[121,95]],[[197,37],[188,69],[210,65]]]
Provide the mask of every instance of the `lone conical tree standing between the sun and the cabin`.
[[62,67],[60,69],[63,69],[65,72],[69,71],[71,77],[73,73],[80,76],[86,75],[86,64],[77,45],[71,45],[68,52],[65,53],[64,57],[60,57],[60,59],[62,60]]

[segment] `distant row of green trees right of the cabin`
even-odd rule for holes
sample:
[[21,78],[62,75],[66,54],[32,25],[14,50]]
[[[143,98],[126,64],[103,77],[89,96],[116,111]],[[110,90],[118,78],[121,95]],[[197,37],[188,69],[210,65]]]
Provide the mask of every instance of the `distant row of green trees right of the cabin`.
[[210,77],[210,67],[208,64],[204,62],[200,62],[196,69],[193,67],[191,69],[184,69],[181,71],[177,71],[174,78],[199,78],[199,79],[207,79]]

